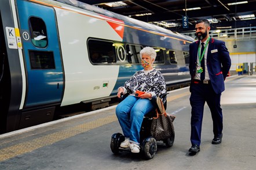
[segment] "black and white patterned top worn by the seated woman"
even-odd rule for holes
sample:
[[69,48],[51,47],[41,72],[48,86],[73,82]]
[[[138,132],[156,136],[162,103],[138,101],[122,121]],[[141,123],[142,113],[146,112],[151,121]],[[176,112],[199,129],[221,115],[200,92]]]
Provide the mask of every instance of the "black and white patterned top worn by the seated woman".
[[140,70],[125,82],[122,87],[125,91],[130,90],[131,95],[134,95],[136,90],[151,93],[152,96],[159,96],[166,93],[166,82],[162,73],[156,69]]

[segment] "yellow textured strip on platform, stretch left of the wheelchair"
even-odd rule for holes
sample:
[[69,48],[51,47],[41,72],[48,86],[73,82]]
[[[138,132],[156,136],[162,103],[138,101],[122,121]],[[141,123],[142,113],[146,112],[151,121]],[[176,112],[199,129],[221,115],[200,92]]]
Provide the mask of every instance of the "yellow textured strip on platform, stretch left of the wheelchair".
[[90,129],[103,126],[104,124],[108,124],[116,120],[118,120],[116,115],[111,115],[107,116],[106,118],[97,119],[92,122],[80,124],[78,126],[59,131],[57,133],[36,138],[28,142],[19,143],[8,148],[3,148],[0,150],[0,161],[7,160],[20,154],[31,152],[35,149],[41,148],[42,146],[50,145],[63,139],[73,137],[74,135],[84,133]]

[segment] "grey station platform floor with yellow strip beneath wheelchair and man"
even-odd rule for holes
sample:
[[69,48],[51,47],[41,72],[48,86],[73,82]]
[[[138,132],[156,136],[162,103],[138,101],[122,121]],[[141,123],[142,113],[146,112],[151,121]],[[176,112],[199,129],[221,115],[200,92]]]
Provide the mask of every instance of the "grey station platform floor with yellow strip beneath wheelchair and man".
[[201,151],[191,156],[189,88],[173,90],[166,112],[176,116],[171,148],[158,142],[151,160],[140,154],[113,154],[111,136],[122,132],[116,105],[0,135],[0,169],[255,169],[256,75],[225,81],[221,107],[222,143],[212,145],[213,124],[204,107]]

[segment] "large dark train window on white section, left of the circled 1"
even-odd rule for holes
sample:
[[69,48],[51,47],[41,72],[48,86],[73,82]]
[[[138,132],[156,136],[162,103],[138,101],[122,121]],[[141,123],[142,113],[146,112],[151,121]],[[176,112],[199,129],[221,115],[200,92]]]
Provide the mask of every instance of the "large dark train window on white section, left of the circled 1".
[[88,41],[90,61],[94,64],[116,63],[115,44],[111,41]]

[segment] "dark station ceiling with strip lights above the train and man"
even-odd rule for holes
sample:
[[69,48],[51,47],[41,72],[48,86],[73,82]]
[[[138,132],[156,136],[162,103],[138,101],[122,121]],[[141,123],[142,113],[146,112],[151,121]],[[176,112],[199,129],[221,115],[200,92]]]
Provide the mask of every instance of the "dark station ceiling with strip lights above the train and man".
[[[185,32],[195,28],[195,22],[211,19],[211,29],[256,27],[256,0],[78,0],[98,6],[114,13],[151,22],[171,31]],[[123,6],[108,6],[106,3],[123,2]],[[197,10],[191,8],[200,7]],[[186,9],[186,11],[184,10]],[[182,18],[187,16],[188,28],[184,28]],[[253,19],[248,19],[253,18]]]

